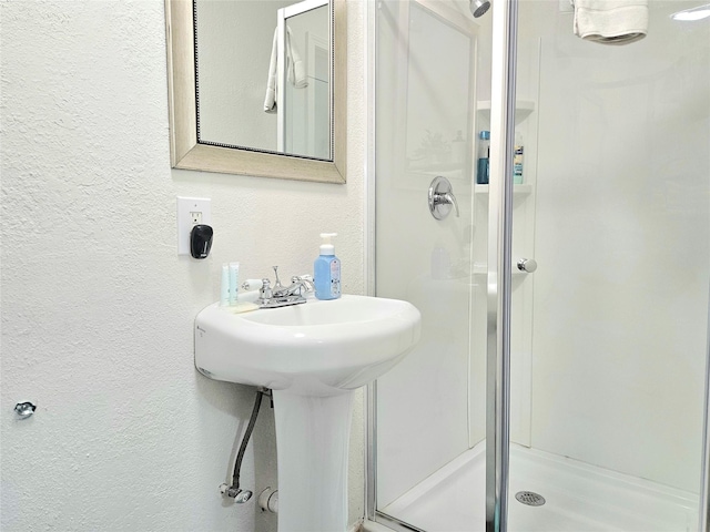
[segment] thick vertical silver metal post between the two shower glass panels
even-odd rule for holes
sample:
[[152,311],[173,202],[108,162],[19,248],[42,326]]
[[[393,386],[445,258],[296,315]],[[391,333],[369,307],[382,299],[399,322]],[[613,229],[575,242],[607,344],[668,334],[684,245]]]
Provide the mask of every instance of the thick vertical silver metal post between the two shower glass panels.
[[517,0],[493,2],[486,313],[486,532],[508,528]]

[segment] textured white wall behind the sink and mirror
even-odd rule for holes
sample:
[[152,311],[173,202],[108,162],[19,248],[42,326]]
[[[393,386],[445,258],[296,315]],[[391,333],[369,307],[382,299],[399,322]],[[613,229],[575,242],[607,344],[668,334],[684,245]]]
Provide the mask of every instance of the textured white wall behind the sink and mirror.
[[[363,6],[348,6],[345,186],[171,171],[162,0],[13,1],[2,16],[2,530],[273,531],[229,505],[253,389],[193,366],[192,323],[220,267],[310,272],[339,233],[363,289]],[[215,243],[179,257],[175,196],[212,198]],[[38,405],[16,419],[19,400]],[[362,400],[352,521],[362,515]],[[243,484],[273,485],[262,407]]]

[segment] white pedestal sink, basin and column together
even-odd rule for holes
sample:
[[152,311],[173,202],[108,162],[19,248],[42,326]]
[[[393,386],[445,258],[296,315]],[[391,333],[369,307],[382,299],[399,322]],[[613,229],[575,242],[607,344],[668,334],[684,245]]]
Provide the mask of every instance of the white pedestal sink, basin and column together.
[[197,369],[273,390],[280,532],[345,532],[353,390],[396,365],[419,329],[412,304],[366,296],[197,314]]

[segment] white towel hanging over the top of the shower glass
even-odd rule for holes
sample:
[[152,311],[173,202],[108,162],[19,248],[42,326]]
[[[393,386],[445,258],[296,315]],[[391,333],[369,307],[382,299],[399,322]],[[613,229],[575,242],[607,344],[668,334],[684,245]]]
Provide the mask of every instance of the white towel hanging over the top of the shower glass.
[[575,34],[602,44],[628,44],[648,32],[648,0],[574,0]]

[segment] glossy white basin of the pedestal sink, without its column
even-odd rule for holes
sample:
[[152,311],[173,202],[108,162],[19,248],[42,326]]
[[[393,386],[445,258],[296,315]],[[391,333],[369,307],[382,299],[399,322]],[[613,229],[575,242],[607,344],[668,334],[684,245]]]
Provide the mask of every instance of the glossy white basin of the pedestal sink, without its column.
[[367,296],[242,314],[214,304],[195,319],[195,366],[216,380],[329,395],[397,364],[418,340],[419,321],[407,301]]

